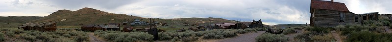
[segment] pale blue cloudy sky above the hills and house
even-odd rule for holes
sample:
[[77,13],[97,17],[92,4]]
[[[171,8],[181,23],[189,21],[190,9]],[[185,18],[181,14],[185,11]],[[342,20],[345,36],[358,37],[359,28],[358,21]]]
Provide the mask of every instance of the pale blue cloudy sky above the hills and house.
[[[392,13],[392,0],[334,1],[345,3],[355,14]],[[0,16],[47,16],[84,7],[146,18],[261,19],[266,25],[309,24],[310,18],[310,0],[0,0]]]

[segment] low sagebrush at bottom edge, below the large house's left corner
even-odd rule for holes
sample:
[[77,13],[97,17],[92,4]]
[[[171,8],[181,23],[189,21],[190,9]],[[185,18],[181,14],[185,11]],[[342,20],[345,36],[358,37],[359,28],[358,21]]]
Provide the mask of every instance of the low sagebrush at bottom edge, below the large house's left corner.
[[314,35],[310,39],[313,42],[331,42],[331,41],[335,41],[335,39],[332,36],[332,34],[328,34],[328,35]]

